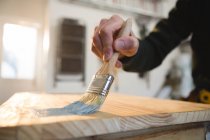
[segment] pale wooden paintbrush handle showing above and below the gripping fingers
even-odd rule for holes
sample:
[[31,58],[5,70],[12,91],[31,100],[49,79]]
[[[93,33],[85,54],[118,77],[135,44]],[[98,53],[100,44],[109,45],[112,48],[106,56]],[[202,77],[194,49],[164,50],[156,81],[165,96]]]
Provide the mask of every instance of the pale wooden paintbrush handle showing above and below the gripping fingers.
[[[132,20],[131,18],[128,18],[122,28],[120,29],[117,38],[123,37],[123,36],[129,36],[131,33],[131,28],[132,28]],[[108,71],[112,73],[112,71],[115,69],[115,64],[118,60],[119,57],[119,53],[118,52],[114,52],[112,58],[109,60],[109,65],[108,65]]]

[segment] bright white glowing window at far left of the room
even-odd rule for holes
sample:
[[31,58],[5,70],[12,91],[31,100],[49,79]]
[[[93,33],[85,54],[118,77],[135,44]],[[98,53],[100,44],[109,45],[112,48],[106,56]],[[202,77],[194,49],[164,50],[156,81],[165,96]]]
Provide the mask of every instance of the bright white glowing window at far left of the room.
[[36,28],[4,24],[2,78],[34,78],[36,42]]

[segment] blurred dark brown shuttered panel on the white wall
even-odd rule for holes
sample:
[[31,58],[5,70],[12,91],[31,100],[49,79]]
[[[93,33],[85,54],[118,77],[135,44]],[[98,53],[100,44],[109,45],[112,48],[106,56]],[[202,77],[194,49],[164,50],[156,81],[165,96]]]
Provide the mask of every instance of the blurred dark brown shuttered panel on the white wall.
[[58,46],[56,80],[84,81],[84,42],[84,24],[74,19],[63,19]]

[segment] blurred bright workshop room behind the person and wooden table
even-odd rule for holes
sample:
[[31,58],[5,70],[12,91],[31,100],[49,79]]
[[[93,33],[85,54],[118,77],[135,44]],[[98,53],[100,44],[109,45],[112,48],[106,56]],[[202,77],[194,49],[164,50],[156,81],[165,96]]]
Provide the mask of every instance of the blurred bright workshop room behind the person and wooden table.
[[[0,104],[16,92],[82,94],[101,62],[94,27],[113,14],[144,38],[176,0],[0,0]],[[176,99],[192,89],[188,40],[148,73],[119,70],[112,92]]]

